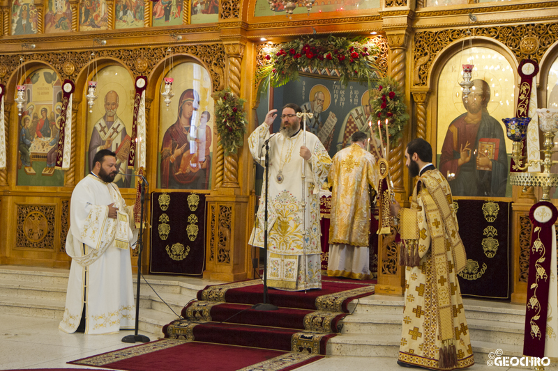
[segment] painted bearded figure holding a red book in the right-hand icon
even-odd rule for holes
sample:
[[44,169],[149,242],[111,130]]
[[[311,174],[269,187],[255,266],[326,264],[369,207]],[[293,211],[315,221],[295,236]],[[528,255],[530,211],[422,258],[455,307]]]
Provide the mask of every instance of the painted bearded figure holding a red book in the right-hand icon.
[[[467,109],[448,127],[440,171],[455,174],[449,181],[454,196],[506,196],[508,155],[502,125],[490,116],[490,86],[474,80],[474,87],[463,105]],[[492,150],[483,148],[490,146]]]

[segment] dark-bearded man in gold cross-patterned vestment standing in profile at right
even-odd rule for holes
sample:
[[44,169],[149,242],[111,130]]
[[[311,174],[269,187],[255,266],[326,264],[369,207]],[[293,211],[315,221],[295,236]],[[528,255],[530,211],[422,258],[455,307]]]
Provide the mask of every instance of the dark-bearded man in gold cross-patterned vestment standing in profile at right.
[[432,165],[432,147],[414,139],[405,150],[409,175],[418,181],[411,208],[398,213],[405,271],[405,307],[398,364],[455,370],[474,364],[457,274],[465,268],[465,247],[451,189]]

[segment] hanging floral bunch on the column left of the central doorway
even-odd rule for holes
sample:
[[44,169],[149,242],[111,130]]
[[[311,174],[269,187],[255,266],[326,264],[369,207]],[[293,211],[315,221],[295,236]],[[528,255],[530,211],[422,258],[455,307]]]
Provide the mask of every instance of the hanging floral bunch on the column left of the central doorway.
[[243,100],[234,95],[230,88],[218,91],[213,97],[216,99],[215,122],[219,144],[223,145],[225,156],[236,153],[244,143],[246,133],[246,113]]

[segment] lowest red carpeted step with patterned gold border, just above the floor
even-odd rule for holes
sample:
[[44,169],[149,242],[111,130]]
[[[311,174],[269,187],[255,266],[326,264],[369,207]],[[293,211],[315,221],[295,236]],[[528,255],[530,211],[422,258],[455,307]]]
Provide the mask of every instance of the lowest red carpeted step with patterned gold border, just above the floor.
[[179,319],[163,327],[165,338],[216,344],[259,347],[286,352],[326,354],[327,340],[335,333],[310,333],[294,329],[248,326]]

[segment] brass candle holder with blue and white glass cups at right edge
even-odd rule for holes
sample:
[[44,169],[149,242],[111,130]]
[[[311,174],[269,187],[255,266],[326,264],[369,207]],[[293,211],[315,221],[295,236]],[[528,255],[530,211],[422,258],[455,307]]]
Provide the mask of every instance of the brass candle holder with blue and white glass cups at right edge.
[[[525,166],[522,166],[525,159],[525,156],[522,155],[522,140],[525,139],[527,125],[531,118],[502,119],[508,129],[508,138],[513,141],[511,152],[511,157],[515,161],[513,168],[523,171],[510,173],[510,184],[522,187],[541,187],[543,189],[541,201],[550,202],[550,188],[558,185],[558,174],[550,173],[552,164],[558,163],[558,161],[552,161],[554,136],[558,132],[558,109],[537,109],[536,112],[539,118],[539,127],[545,134],[544,150],[541,150],[545,157],[544,159],[531,159]],[[542,164],[543,172],[525,171],[534,164]]]

